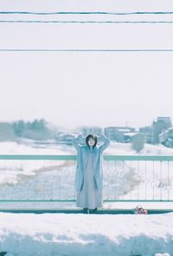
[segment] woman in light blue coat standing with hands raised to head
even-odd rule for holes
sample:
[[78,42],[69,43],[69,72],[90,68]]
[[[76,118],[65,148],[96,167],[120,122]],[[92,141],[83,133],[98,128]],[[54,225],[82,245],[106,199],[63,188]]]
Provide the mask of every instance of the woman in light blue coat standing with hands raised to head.
[[[101,144],[98,145],[98,141]],[[102,207],[102,153],[110,145],[106,135],[78,135],[72,141],[77,150],[75,189],[77,191],[76,207],[83,208],[84,213],[95,213]]]

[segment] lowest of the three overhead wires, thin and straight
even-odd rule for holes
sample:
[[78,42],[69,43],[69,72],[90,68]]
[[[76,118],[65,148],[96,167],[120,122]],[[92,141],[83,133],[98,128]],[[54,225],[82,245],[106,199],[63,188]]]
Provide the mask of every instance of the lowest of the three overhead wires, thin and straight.
[[0,49],[0,52],[173,52],[173,49]]

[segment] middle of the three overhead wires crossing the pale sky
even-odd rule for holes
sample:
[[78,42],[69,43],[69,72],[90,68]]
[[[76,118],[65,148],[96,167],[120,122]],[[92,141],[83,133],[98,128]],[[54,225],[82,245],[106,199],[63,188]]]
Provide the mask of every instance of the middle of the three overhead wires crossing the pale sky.
[[0,23],[173,23],[173,21],[1,21]]

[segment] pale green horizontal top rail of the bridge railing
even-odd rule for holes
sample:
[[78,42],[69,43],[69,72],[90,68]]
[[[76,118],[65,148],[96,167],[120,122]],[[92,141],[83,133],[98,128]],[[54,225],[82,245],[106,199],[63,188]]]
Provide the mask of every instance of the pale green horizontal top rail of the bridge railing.
[[[106,161],[173,161],[173,155],[111,155],[105,154]],[[75,154],[0,154],[0,160],[42,160],[75,161]]]

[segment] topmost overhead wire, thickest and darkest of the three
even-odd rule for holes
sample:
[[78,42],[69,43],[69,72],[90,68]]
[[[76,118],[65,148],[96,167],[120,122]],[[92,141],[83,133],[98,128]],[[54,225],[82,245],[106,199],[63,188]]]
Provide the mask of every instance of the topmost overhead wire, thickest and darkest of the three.
[[136,12],[106,12],[106,11],[57,11],[57,12],[34,12],[34,11],[0,11],[0,14],[24,14],[24,15],[144,15],[144,14],[173,14],[173,11],[136,11]]

